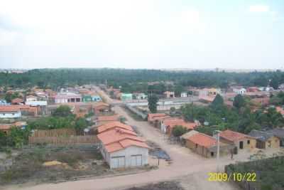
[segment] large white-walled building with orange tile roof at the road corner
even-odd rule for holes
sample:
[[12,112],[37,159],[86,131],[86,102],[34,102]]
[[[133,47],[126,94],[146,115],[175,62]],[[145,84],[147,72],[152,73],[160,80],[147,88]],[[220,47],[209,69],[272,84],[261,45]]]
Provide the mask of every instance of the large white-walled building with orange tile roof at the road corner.
[[124,127],[110,127],[97,135],[100,150],[109,167],[115,169],[148,164],[149,147],[145,140],[137,137],[130,126],[128,130]]

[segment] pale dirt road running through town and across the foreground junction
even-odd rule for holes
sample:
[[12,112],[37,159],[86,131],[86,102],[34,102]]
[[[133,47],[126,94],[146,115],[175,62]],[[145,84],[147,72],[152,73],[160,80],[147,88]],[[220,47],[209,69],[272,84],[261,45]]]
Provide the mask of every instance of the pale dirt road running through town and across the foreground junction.
[[[103,189],[123,189],[126,187],[148,184],[158,181],[170,181],[173,179],[181,180],[185,189],[235,189],[230,184],[220,185],[215,182],[207,181],[207,172],[215,171],[216,160],[204,159],[197,154],[190,152],[190,149],[180,147],[176,144],[168,144],[158,130],[148,124],[148,122],[138,122],[133,120],[121,107],[114,107],[114,110],[126,117],[129,125],[135,125],[139,132],[143,134],[145,139],[151,140],[160,145],[162,149],[173,159],[173,164],[168,167],[160,167],[159,169],[131,174],[126,176],[114,176],[104,179],[87,179],[81,181],[67,181],[60,184],[39,184],[37,186],[10,186],[6,189],[25,189],[25,190],[103,190]],[[229,164],[226,160],[222,164]],[[1,189],[1,188],[0,188]]]

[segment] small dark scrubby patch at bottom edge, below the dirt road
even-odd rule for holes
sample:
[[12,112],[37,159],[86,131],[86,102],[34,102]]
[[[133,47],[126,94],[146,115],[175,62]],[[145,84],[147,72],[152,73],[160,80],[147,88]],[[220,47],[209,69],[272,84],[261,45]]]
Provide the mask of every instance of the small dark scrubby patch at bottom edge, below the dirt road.
[[132,187],[126,190],[184,190],[177,181],[165,181],[146,186]]

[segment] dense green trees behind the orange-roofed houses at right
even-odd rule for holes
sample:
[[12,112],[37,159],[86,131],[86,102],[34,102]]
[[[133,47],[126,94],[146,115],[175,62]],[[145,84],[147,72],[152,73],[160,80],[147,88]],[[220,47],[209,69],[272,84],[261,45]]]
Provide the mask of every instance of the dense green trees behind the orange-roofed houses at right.
[[234,107],[224,105],[224,100],[217,95],[208,107],[185,105],[182,107],[182,116],[187,121],[198,120],[201,124],[197,130],[212,135],[214,130],[234,130],[249,133],[251,130],[273,129],[284,127],[284,118],[275,107],[262,108],[253,111],[246,97],[234,97]]

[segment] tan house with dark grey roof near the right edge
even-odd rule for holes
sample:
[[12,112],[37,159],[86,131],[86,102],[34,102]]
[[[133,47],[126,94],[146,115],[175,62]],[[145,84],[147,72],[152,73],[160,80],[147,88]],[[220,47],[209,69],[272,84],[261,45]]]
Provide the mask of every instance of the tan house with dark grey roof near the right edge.
[[258,149],[280,147],[280,138],[276,137],[273,132],[252,130],[249,135],[256,138],[256,148]]

